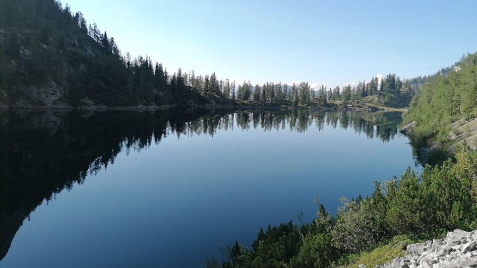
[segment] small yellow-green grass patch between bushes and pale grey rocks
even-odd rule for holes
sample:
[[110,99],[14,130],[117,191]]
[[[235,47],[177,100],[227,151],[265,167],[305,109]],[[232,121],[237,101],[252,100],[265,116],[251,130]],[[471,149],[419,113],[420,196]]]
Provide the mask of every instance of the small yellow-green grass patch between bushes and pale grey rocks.
[[385,241],[371,251],[364,251],[343,257],[342,262],[347,264],[340,267],[357,267],[360,264],[365,264],[367,267],[375,267],[378,264],[390,262],[395,257],[403,257],[406,251],[402,250],[402,244],[413,243],[416,243],[416,241],[410,239],[407,235],[398,235]]

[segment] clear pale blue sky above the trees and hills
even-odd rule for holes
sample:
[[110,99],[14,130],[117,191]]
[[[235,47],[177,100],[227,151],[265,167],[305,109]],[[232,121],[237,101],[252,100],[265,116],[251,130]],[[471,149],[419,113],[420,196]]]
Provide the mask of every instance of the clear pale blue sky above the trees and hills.
[[62,0],[169,73],[328,87],[435,73],[477,50],[477,1]]

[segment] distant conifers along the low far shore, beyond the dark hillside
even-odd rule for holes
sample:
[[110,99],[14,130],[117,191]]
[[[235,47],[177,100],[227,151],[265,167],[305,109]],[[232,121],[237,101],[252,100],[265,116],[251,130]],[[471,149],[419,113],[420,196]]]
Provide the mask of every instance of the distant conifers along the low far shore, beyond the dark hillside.
[[[236,99],[241,101],[253,102],[275,102],[285,103],[292,106],[311,106],[313,104],[323,107],[330,103],[347,105],[352,103],[370,102],[370,97],[375,97],[375,104],[381,104],[392,107],[407,106],[416,89],[419,89],[420,83],[427,79],[414,78],[401,80],[395,74],[389,74],[383,79],[373,77],[369,82],[365,80],[359,82],[356,86],[346,85],[343,88],[327,88],[323,85],[315,90],[309,83],[282,85],[281,82],[274,84],[267,82],[253,86],[250,81],[238,85]],[[235,93],[228,90],[227,87],[219,87],[218,92],[223,92],[225,96],[235,99]],[[370,97],[369,97],[370,96]],[[367,98],[368,97],[368,98]]]

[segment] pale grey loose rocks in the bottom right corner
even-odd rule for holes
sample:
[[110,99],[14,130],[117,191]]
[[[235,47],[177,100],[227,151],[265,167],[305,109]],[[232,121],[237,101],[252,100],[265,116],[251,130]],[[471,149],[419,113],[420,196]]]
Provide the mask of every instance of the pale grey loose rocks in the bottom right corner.
[[455,230],[445,238],[408,245],[407,255],[376,268],[477,267],[477,231]]

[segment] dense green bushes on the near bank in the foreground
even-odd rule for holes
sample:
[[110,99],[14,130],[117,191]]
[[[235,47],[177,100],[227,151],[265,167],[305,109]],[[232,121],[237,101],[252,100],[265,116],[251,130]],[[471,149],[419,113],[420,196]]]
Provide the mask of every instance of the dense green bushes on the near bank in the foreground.
[[236,242],[226,247],[221,265],[214,258],[206,264],[337,267],[351,264],[351,254],[373,249],[393,236],[430,239],[456,228],[475,229],[476,167],[477,152],[463,148],[456,163],[426,166],[421,175],[408,169],[399,179],[376,182],[371,196],[343,198],[336,216],[320,205],[312,223],[260,229],[251,248]]

